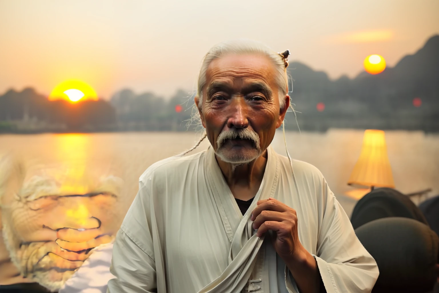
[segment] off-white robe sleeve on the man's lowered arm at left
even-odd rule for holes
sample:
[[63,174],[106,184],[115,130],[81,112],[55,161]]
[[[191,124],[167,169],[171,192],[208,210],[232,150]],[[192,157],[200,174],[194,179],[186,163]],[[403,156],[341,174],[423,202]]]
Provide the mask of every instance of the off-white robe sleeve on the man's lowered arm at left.
[[113,245],[111,293],[157,292],[149,195],[140,184]]

